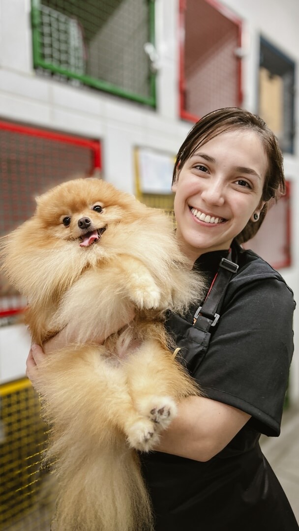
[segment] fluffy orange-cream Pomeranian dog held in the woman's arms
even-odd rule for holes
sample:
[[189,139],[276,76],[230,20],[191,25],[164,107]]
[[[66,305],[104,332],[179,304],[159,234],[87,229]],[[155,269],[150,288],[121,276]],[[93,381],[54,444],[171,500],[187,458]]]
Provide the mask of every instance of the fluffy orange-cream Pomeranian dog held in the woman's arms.
[[45,459],[57,476],[54,529],[150,530],[136,450],[155,448],[178,402],[200,392],[169,350],[165,311],[183,313],[203,281],[169,217],[112,184],[78,178],[36,201],[32,218],[2,239],[1,255],[28,298],[33,341],[65,327],[69,337],[35,382],[50,426]]

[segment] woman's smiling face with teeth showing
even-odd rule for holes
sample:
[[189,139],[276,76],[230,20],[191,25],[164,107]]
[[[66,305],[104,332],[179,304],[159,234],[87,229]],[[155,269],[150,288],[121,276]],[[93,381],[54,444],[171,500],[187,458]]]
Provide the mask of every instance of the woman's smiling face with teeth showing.
[[228,249],[261,201],[268,160],[252,130],[220,133],[186,160],[172,190],[177,237],[187,256]]

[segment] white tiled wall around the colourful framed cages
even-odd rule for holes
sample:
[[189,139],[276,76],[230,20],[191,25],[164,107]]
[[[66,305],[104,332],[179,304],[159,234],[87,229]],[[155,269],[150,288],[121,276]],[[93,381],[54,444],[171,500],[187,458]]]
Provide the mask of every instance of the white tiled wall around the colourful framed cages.
[[[157,110],[88,87],[75,88],[36,76],[32,68],[30,0],[0,0],[0,117],[102,140],[104,177],[122,190],[134,192],[133,147],[142,145],[175,153],[191,124],[178,118],[178,0],[156,0],[156,42],[159,54]],[[299,4],[297,0],[225,0],[224,6],[243,19],[243,106],[257,110],[259,35],[299,62]],[[296,102],[296,122],[298,116]],[[292,181],[293,265],[281,271],[299,304],[299,230],[296,155],[285,157]],[[277,309],[279,311],[279,309]],[[299,398],[298,315],[296,352],[291,374],[293,400]],[[18,327],[0,328],[0,381],[19,376],[29,348]],[[7,359],[11,359],[11,363]],[[18,362],[16,361],[18,360]],[[17,367],[14,371],[13,366]]]

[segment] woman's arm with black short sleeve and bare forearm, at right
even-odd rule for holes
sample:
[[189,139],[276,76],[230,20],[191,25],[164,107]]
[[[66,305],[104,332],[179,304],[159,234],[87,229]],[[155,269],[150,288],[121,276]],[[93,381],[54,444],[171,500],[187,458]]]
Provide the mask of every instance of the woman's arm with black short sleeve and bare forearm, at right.
[[[268,266],[263,267],[269,275]],[[254,429],[279,434],[293,353],[293,295],[279,278],[250,282],[244,276],[237,286],[234,304],[220,319],[196,374],[211,398],[186,398],[161,435],[158,451],[207,461],[251,415]],[[225,404],[227,397],[235,407]]]

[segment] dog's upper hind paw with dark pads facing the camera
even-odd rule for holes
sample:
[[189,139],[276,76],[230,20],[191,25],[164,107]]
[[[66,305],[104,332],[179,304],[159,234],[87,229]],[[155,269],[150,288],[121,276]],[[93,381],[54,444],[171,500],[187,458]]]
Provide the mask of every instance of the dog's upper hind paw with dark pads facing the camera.
[[177,414],[175,401],[170,397],[161,396],[143,399],[138,404],[138,410],[156,425],[158,432],[165,430]]

